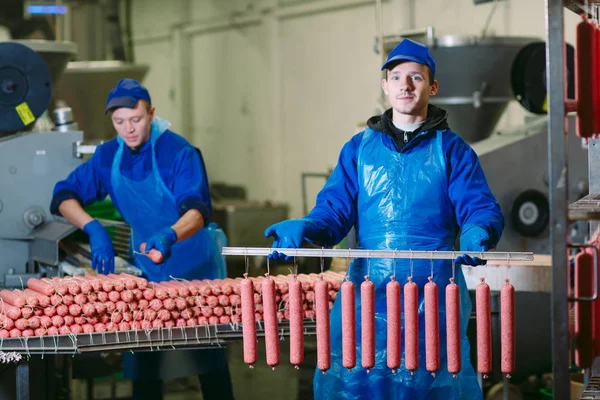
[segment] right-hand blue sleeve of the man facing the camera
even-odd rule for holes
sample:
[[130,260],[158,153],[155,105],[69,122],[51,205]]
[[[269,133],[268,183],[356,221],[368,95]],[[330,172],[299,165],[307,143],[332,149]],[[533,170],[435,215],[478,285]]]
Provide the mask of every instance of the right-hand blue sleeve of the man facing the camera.
[[490,190],[477,154],[456,134],[448,135],[445,154],[450,168],[449,197],[463,231],[470,225],[487,230],[495,246],[504,230],[500,205]]

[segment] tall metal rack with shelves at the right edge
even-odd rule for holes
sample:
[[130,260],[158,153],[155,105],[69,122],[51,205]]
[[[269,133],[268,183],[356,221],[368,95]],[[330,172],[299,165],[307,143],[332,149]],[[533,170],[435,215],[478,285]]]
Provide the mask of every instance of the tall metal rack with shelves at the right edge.
[[[600,153],[597,140],[590,140],[589,192],[580,201],[569,205],[567,136],[565,134],[565,42],[564,11],[586,13],[586,4],[594,0],[546,0],[546,81],[548,88],[548,173],[550,197],[550,241],[552,258],[552,391],[554,398],[568,399],[569,376],[569,299],[568,299],[568,243],[570,221],[600,219]],[[592,223],[592,231],[597,223]],[[595,398],[585,397],[584,398]]]

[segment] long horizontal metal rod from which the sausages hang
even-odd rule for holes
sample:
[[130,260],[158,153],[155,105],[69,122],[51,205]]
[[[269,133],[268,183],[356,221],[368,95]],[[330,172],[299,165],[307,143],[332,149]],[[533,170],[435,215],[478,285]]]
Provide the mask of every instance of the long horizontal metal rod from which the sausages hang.
[[280,249],[273,247],[223,247],[224,256],[268,256],[273,251],[290,257],[339,257],[339,258],[408,258],[453,260],[463,254],[482,260],[496,261],[532,261],[531,252],[461,252],[461,251],[422,251],[422,250],[361,250],[361,249]]

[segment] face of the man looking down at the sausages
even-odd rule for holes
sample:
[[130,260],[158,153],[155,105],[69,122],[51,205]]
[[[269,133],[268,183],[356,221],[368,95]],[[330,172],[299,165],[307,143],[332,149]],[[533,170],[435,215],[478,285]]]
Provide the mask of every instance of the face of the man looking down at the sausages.
[[150,122],[154,118],[154,107],[138,101],[134,108],[121,107],[112,112],[111,119],[117,133],[125,144],[136,149],[150,138]]

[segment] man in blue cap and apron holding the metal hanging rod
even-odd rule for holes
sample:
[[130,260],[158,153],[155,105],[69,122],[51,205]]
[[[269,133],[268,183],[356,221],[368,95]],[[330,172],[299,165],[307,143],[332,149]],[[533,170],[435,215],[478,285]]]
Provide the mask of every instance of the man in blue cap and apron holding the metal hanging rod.
[[[460,233],[461,252],[487,251],[498,243],[504,218],[487,185],[473,149],[450,130],[446,111],[429,104],[438,91],[435,61],[428,48],[404,39],[382,67],[383,91],[391,109],[368,120],[368,128],[343,147],[335,170],[317,196],[315,207],[301,219],[270,226],[274,248],[298,248],[304,240],[319,246],[339,243],[356,226],[358,246],[372,250],[454,250]],[[269,257],[290,257],[273,251]],[[455,262],[485,261],[463,254]],[[370,265],[369,265],[370,264]],[[411,265],[414,271],[411,272]],[[462,371],[447,371],[445,287],[452,260],[356,259],[349,279],[356,288],[357,366],[342,367],[341,296],[331,311],[331,369],[314,377],[315,399],[481,399],[470,363],[466,328],[471,301],[457,266],[460,286]],[[376,366],[370,374],[360,365],[360,284],[370,271],[375,283]],[[425,368],[423,287],[433,271],[439,291],[440,366],[433,377]],[[419,287],[419,369],[411,375],[402,365],[394,375],[386,364],[386,284],[412,279]],[[404,333],[404,323],[402,323]]]

